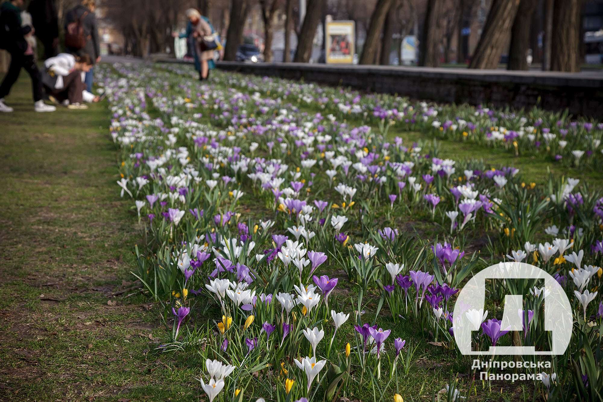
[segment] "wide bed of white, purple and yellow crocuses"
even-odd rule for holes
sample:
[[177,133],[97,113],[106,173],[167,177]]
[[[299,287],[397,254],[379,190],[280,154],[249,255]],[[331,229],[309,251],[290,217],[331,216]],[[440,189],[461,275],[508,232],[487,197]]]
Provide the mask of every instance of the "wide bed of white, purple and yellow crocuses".
[[[528,369],[526,386],[598,395],[598,189],[554,176],[535,185],[514,167],[438,158],[437,148],[407,146],[388,129],[435,130],[521,158],[562,155],[569,164],[573,155],[587,168],[601,162],[600,124],[219,72],[208,85],[174,66],[99,74],[121,196],[132,197],[144,227],[134,274],[165,306],[170,328],[158,350],[207,359],[199,371],[210,401],[487,395],[456,348],[452,312],[467,279],[504,260],[554,275],[574,313],[569,348],[544,371]],[[548,347],[548,289],[492,280],[486,291],[482,310],[459,310],[481,328],[475,348]],[[523,337],[500,321],[513,292],[524,296]],[[452,378],[418,391],[408,378],[425,373],[426,354],[450,363]],[[490,369],[491,384],[490,374],[505,372]]]

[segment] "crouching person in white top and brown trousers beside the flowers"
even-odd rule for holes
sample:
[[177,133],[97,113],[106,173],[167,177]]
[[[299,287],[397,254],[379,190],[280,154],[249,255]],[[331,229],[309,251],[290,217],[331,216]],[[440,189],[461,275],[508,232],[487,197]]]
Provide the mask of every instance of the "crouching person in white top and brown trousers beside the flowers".
[[42,83],[52,102],[62,103],[69,109],[87,109],[84,101],[98,101],[98,97],[85,90],[86,84],[82,80],[83,74],[92,68],[92,60],[87,54],[61,53],[46,59],[44,66]]

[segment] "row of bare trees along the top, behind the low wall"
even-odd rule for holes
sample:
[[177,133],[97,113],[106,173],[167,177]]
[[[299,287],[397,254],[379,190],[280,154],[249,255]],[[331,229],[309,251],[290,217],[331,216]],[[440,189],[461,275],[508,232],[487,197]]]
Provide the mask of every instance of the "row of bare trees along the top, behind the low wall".
[[[469,55],[467,46],[461,43],[462,31],[476,18],[476,13],[483,13],[481,35],[469,67],[496,68],[500,56],[508,53],[508,68],[519,70],[528,68],[526,54],[529,48],[534,48],[535,37],[532,22],[540,7],[544,10],[538,12],[545,21],[543,65],[556,71],[578,71],[584,1],[306,0],[303,21],[300,21],[299,0],[103,0],[103,5],[107,6],[106,17],[122,31],[127,47],[137,56],[145,56],[145,51],[165,51],[183,12],[196,7],[226,37],[224,59],[235,60],[248,15],[259,7],[267,62],[273,60],[272,42],[279,17],[285,19],[283,61],[291,61],[294,34],[297,50],[292,61],[308,62],[317,28],[321,22],[324,27],[330,14],[335,19],[352,19],[357,31],[359,28],[366,31],[361,64],[389,64],[391,49],[400,49],[402,38],[414,30],[420,39],[421,66],[438,66],[442,59],[447,62],[454,47],[455,59],[463,62]],[[482,10],[484,4],[489,4],[489,8]],[[397,42],[393,43],[394,40]]]

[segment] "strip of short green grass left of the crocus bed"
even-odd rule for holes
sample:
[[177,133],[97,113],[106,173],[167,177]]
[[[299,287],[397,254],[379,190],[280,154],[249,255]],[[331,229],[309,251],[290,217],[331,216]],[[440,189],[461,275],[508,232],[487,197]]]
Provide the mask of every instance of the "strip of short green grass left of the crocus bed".
[[115,185],[106,104],[35,113],[27,74],[6,101],[15,112],[0,115],[0,399],[199,395],[196,369],[154,350],[159,308],[141,305],[149,299],[136,289],[112,297],[132,286],[140,231]]

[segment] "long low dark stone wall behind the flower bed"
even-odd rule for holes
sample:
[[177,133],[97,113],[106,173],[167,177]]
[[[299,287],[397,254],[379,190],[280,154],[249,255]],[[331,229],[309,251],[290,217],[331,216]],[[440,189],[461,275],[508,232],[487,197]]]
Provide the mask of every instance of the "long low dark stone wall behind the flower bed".
[[226,71],[350,86],[413,99],[514,109],[538,106],[603,118],[603,71],[568,74],[305,63],[218,62],[217,65]]

